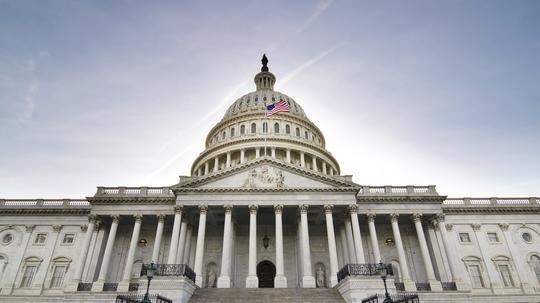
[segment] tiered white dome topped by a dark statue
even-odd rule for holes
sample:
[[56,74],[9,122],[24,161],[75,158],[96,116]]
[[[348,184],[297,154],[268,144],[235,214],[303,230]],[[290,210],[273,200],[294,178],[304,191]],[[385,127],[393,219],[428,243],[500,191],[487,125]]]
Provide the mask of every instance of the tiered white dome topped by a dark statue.
[[[274,90],[276,77],[262,59],[255,75],[256,90],[234,101],[223,119],[208,133],[205,150],[191,168],[205,176],[260,158],[271,158],[323,175],[339,175],[339,164],[325,149],[321,130],[288,95]],[[288,112],[266,116],[266,106],[286,101]]]

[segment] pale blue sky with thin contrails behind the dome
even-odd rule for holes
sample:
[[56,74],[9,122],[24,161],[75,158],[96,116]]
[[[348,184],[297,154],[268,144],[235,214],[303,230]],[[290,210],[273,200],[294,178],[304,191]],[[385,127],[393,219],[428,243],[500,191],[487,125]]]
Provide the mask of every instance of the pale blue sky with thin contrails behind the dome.
[[0,0],[0,197],[163,186],[266,53],[343,174],[540,196],[538,1]]

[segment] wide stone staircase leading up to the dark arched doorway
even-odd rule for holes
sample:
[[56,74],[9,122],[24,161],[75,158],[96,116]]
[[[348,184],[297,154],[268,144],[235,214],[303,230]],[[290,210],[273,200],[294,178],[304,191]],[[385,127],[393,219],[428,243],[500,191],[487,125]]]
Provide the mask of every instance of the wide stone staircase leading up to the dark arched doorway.
[[189,303],[345,302],[333,288],[199,288]]

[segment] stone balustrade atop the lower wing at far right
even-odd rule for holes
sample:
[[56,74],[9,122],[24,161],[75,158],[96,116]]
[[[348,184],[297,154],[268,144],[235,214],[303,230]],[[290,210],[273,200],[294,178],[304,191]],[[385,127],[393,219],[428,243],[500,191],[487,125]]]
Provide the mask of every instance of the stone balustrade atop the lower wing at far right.
[[539,206],[540,198],[449,198],[444,207],[526,207]]

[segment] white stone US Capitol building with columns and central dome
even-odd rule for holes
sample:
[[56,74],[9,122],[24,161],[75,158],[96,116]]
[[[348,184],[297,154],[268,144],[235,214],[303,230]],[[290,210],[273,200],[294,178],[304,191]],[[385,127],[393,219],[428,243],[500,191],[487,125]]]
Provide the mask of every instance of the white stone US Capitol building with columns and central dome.
[[112,302],[145,292],[151,261],[174,302],[361,302],[384,293],[379,262],[421,302],[540,301],[540,198],[357,184],[266,58],[254,80],[178,184],[0,199],[0,301]]

